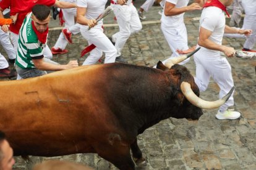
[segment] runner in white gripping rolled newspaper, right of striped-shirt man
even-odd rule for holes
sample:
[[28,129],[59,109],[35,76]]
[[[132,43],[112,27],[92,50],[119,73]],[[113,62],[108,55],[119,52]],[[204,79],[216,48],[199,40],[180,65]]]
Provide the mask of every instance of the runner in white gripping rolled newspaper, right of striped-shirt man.
[[103,33],[103,20],[98,23],[95,20],[105,10],[106,2],[107,0],[77,0],[77,23],[81,25],[81,34],[89,45],[96,46],[83,65],[96,63],[101,58],[102,52],[105,52],[105,63],[113,63],[116,60],[116,48]]

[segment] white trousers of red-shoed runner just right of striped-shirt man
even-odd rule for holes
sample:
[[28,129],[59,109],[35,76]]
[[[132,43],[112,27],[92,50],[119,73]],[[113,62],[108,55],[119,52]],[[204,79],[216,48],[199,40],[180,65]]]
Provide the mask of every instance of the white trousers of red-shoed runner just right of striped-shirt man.
[[[65,20],[65,28],[68,28],[72,34],[80,33],[80,26],[78,23],[75,24],[75,16],[77,15],[77,9],[61,9],[63,13],[63,17]],[[61,33],[59,34],[59,38],[54,45],[54,49],[65,49],[67,46],[67,40],[64,38],[64,35]]]

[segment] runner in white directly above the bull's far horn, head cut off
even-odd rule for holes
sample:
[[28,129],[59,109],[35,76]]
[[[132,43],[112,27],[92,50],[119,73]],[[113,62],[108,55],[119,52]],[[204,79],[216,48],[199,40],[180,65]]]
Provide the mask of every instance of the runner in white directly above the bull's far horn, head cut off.
[[[164,4],[164,12],[161,17],[161,30],[173,52],[171,57],[179,56],[176,52],[177,49],[182,49],[184,51],[189,49],[189,46],[187,46],[187,28],[184,23],[184,13],[193,10],[201,10],[202,2],[203,1],[195,0],[195,3],[187,6],[189,0],[166,0]],[[164,60],[163,63],[170,58]],[[189,59],[184,60],[179,64],[184,64],[188,61]]]

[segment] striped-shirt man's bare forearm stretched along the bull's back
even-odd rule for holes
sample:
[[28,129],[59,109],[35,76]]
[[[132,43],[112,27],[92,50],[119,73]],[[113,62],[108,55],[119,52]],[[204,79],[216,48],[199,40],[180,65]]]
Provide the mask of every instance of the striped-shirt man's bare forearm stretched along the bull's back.
[[43,59],[32,59],[34,65],[38,70],[43,71],[59,71],[59,70],[66,70],[69,68],[78,67],[77,60],[72,60],[66,65],[54,65],[52,63],[47,63]]

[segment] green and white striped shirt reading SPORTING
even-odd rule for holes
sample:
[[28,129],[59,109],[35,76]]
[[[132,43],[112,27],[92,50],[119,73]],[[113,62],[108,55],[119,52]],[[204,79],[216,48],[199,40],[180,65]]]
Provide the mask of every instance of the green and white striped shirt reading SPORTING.
[[32,12],[25,17],[19,31],[18,52],[15,64],[20,68],[35,68],[32,59],[43,58],[43,47],[32,28]]

